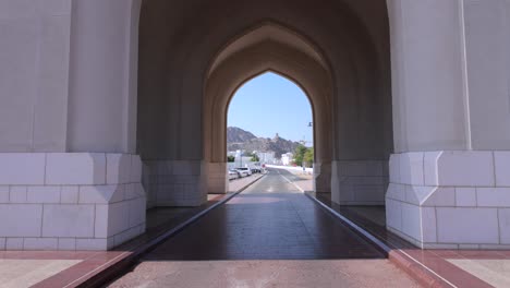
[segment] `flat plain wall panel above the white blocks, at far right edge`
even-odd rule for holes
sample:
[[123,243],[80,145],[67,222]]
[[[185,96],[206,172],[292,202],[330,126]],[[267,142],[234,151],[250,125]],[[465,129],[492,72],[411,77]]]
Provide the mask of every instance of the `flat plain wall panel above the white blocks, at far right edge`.
[[510,149],[510,2],[463,1],[473,149]]

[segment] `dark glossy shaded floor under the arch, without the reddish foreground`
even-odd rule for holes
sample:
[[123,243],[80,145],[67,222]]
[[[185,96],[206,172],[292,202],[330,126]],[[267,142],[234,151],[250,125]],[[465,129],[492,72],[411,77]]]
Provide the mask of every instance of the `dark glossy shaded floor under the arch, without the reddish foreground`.
[[146,256],[147,260],[384,257],[277,173],[210,212]]

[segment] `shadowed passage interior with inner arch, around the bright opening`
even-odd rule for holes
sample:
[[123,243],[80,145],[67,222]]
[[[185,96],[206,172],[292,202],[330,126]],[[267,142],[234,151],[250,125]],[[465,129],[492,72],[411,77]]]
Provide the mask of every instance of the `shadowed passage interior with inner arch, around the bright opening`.
[[151,202],[193,206],[224,193],[227,104],[271,70],[311,98],[315,190],[343,205],[384,205],[393,146],[386,3],[367,13],[343,1],[313,11],[306,2],[228,2],[224,17],[209,13],[217,3],[178,13],[169,1],[143,2],[137,152]]

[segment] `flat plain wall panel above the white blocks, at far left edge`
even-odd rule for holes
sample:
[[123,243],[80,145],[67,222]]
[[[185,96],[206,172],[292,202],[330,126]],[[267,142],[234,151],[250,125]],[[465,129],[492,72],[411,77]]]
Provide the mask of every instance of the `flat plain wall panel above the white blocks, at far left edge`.
[[71,0],[0,0],[0,151],[65,151]]

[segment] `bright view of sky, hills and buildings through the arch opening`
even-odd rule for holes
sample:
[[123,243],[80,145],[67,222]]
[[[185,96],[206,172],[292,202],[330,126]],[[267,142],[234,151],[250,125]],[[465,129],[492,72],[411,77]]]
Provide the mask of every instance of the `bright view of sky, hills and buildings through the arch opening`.
[[301,177],[313,175],[313,107],[299,83],[265,71],[234,91],[227,110],[229,170],[247,166],[259,171],[267,166],[299,171],[302,167]]

